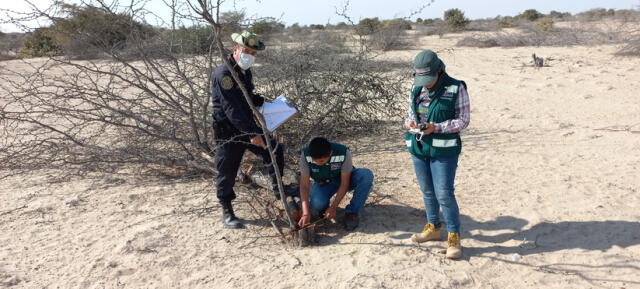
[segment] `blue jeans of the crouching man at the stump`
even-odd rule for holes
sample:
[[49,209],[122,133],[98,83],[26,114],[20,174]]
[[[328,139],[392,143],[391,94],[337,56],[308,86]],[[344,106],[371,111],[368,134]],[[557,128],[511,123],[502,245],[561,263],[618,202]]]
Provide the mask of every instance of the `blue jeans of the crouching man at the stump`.
[[[346,208],[347,213],[358,213],[371,192],[373,186],[373,172],[365,168],[357,168],[351,171],[349,191],[353,190],[353,198]],[[311,209],[321,212],[329,207],[331,197],[340,187],[340,181],[326,184],[313,183],[311,186]]]

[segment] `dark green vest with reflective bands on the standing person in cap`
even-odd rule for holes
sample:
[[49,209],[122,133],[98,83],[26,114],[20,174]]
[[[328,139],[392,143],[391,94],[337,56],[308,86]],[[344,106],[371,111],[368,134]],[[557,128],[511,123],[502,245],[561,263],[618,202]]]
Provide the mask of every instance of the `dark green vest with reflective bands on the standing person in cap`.
[[[462,82],[449,77],[446,73],[440,77],[442,79],[429,95],[432,100],[427,110],[428,122],[439,123],[455,117],[456,99]],[[421,91],[422,86],[414,86],[411,90],[411,109],[417,123],[420,123],[417,99]],[[404,136],[409,152],[419,157],[455,157],[462,150],[459,133],[432,133],[422,136],[418,141],[419,137],[419,134],[410,132],[405,133]]]

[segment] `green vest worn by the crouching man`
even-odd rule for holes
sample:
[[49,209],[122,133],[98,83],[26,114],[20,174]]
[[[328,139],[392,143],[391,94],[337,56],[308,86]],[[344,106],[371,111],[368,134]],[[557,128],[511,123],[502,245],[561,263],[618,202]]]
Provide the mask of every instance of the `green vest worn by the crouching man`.
[[309,147],[305,147],[302,152],[309,165],[311,178],[316,183],[339,182],[342,171],[342,163],[347,156],[348,148],[341,144],[331,143],[331,158],[323,166],[316,165],[309,155]]

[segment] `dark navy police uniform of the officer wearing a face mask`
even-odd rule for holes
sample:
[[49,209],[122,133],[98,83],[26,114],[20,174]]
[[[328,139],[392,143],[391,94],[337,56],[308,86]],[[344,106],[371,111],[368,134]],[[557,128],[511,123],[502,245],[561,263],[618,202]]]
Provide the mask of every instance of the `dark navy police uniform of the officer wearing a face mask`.
[[[253,93],[254,86],[251,69],[242,71],[231,56],[229,61],[240,75],[240,80],[244,83],[249,95],[251,95],[253,103],[256,106],[262,105],[264,98]],[[231,201],[236,198],[233,185],[242,161],[242,155],[246,149],[262,157],[275,187],[277,182],[269,151],[266,148],[251,144],[250,141],[252,137],[262,134],[262,129],[254,120],[251,108],[238,84],[233,80],[226,64],[218,66],[211,77],[211,96],[213,99],[213,126],[216,137],[215,165],[218,170],[216,178],[218,199],[220,201]],[[282,144],[272,140],[272,146],[275,147],[276,145],[276,161],[282,175],[284,168],[283,147]]]

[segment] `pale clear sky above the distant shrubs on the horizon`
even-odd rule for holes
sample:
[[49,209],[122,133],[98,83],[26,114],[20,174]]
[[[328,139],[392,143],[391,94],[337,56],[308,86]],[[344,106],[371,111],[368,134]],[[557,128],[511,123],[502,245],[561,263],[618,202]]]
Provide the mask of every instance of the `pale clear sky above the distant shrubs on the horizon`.
[[[31,2],[42,6],[51,1],[31,0]],[[66,2],[77,2],[77,0],[67,0]],[[163,4],[164,2],[169,1],[149,0],[147,8],[166,18],[169,15],[169,9]],[[347,14],[354,22],[367,17],[378,17],[380,19],[407,17],[412,11],[429,2],[430,0],[351,0],[349,1]],[[336,14],[336,7],[343,7],[344,3],[344,0],[226,0],[223,4],[223,10],[244,9],[247,16],[274,17],[286,25],[293,23],[301,25],[335,24],[345,21],[344,18]],[[639,6],[640,0],[435,0],[429,7],[412,18],[441,18],[444,11],[451,8],[461,9],[467,17],[478,19],[493,18],[498,15],[513,16],[526,9],[536,9],[542,13],[556,10],[575,14],[593,8],[634,9]],[[17,11],[24,11],[26,7],[27,4],[23,0],[2,0],[2,4],[0,4],[2,9]],[[1,19],[6,19],[4,13],[0,13]],[[153,20],[149,19],[148,21],[154,24]],[[33,24],[31,26],[39,25]],[[2,32],[17,30],[12,25],[0,24],[0,31]]]

